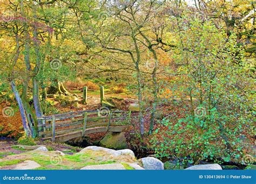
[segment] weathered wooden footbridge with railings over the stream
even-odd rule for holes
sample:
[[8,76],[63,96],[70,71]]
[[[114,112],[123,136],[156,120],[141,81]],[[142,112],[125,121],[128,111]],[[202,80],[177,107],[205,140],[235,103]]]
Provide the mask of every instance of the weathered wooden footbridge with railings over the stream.
[[94,111],[67,112],[39,117],[38,136],[64,142],[96,132],[122,132],[127,127],[130,111],[112,111],[104,107]]

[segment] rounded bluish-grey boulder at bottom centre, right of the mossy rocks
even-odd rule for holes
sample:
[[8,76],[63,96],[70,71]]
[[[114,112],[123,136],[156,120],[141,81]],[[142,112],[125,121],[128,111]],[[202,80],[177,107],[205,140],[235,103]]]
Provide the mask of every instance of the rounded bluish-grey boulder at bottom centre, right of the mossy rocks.
[[146,157],[138,160],[139,165],[147,170],[163,170],[164,164],[161,160],[153,157]]

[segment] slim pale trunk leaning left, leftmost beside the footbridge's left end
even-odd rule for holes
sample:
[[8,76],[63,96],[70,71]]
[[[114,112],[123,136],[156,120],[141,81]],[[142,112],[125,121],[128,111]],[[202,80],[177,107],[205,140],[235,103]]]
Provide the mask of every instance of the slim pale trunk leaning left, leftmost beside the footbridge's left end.
[[26,136],[30,137],[31,136],[31,131],[29,129],[28,120],[26,118],[24,105],[23,105],[21,96],[19,96],[19,92],[18,92],[18,89],[17,89],[14,81],[11,81],[11,89],[14,92],[16,101],[18,103],[19,112],[21,112],[22,124],[23,124],[24,131],[26,133]]

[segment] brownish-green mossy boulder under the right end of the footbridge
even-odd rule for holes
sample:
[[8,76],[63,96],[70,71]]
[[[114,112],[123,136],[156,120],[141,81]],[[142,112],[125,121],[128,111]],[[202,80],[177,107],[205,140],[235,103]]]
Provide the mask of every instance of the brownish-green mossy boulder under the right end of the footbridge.
[[109,132],[102,140],[100,140],[99,145],[116,150],[125,149],[127,147],[125,133]]

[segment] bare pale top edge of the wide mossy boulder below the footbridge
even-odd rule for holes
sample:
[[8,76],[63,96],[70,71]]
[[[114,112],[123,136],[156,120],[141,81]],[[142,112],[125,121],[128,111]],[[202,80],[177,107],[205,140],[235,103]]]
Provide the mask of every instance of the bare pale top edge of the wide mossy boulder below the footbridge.
[[135,158],[135,155],[133,153],[133,151],[129,150],[129,149],[125,149],[125,150],[112,150],[109,148],[105,148],[105,147],[99,147],[99,146],[87,146],[85,148],[83,148],[83,150],[81,150],[79,153],[84,153],[86,151],[104,151],[106,153],[112,154],[114,156],[120,156],[120,155],[129,155],[132,158]]

